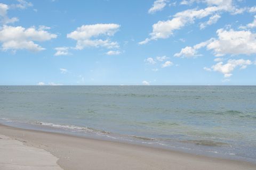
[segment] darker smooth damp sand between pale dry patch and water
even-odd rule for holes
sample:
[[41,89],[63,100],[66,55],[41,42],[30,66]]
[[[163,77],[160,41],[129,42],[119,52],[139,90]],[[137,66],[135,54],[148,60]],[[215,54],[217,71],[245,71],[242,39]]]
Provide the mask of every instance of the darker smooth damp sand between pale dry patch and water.
[[[255,169],[256,165],[71,134],[13,128],[0,124],[0,134],[23,145],[44,149],[63,169]],[[171,168],[170,168],[171,167]]]

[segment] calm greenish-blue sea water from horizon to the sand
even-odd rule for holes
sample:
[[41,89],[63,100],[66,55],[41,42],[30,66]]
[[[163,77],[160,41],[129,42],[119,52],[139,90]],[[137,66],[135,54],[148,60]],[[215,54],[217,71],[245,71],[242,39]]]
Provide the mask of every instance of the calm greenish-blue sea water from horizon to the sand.
[[256,86],[0,86],[0,118],[256,163]]

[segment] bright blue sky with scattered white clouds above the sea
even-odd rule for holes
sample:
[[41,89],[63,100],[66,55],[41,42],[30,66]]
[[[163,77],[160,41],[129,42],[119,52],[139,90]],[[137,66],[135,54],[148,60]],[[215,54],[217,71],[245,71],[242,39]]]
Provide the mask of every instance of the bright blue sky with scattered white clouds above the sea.
[[256,85],[254,0],[1,0],[0,85]]

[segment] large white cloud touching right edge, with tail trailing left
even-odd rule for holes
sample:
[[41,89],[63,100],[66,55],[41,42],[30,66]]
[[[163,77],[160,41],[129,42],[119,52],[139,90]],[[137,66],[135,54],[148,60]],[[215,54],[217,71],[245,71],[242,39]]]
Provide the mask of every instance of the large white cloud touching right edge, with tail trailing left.
[[217,35],[218,38],[211,38],[194,47],[182,48],[181,52],[174,54],[174,56],[196,56],[197,50],[202,47],[206,47],[207,50],[213,50],[215,56],[256,54],[256,34],[250,30],[219,29],[217,30]]

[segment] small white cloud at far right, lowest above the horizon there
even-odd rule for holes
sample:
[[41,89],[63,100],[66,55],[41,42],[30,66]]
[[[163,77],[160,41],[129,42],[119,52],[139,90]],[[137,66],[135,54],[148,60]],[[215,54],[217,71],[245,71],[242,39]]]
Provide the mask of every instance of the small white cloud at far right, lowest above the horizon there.
[[245,69],[247,65],[251,65],[252,62],[250,60],[228,60],[226,64],[223,64],[223,62],[219,62],[212,66],[213,71],[218,71],[222,74],[224,74],[225,78],[230,77],[232,74],[231,72],[234,71],[234,69],[238,66],[240,66],[240,69]]

